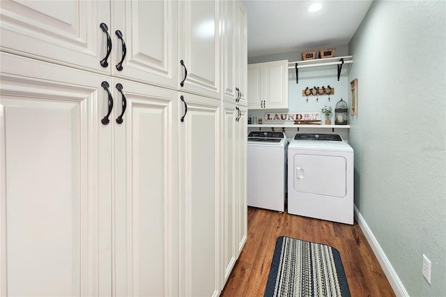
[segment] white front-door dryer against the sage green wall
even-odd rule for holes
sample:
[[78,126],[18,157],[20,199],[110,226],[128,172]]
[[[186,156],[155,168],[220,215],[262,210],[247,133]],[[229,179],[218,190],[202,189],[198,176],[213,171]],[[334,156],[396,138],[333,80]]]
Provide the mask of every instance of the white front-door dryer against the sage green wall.
[[335,134],[296,134],[288,147],[288,213],[353,224],[353,148]]

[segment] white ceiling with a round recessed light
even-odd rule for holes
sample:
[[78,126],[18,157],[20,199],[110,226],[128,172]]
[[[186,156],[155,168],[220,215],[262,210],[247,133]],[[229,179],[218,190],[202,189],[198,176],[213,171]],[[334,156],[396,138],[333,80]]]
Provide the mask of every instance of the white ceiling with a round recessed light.
[[346,45],[372,0],[317,1],[323,8],[316,13],[307,12],[314,2],[243,0],[248,17],[248,56]]

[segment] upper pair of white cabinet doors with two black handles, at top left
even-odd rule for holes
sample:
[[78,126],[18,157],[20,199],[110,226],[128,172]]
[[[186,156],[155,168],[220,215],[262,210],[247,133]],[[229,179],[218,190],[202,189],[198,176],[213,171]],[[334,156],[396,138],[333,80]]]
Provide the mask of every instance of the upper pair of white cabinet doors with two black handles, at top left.
[[0,6],[4,52],[178,85],[176,1],[2,0]]

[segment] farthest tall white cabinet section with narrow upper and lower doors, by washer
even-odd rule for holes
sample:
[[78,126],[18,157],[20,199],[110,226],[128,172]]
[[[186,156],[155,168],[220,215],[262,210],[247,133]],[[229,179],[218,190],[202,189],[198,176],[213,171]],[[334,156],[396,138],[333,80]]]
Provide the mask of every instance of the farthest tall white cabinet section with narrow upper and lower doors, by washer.
[[[247,15],[225,1],[222,91],[222,266],[226,282],[247,239]],[[245,65],[245,66],[243,66]]]

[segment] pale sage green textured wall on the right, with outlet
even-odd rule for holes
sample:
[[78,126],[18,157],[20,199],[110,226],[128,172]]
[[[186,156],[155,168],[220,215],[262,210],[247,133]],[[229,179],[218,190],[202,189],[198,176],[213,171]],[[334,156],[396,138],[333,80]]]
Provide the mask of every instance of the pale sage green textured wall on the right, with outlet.
[[446,296],[445,15],[445,1],[375,1],[349,44],[355,204],[410,296]]

